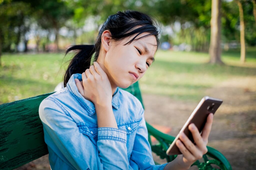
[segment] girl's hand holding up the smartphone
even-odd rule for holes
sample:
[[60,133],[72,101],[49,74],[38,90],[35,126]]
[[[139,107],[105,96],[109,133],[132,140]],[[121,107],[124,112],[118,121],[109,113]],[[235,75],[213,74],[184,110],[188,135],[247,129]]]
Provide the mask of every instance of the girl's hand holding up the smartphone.
[[180,152],[182,152],[182,154],[177,156],[180,166],[189,168],[196,160],[201,159],[202,156],[208,152],[206,145],[208,143],[212,121],[213,114],[210,113],[207,117],[204,129],[202,130],[202,135],[200,135],[197,127],[193,123],[188,126],[196,145],[194,145],[184,133],[180,134],[179,139],[176,141],[177,147]]

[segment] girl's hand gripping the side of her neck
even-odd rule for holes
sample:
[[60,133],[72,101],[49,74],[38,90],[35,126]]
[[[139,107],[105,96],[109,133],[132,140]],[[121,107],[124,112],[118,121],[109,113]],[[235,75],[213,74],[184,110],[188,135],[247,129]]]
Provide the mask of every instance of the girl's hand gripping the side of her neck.
[[82,73],[82,84],[78,79],[75,81],[79,93],[94,105],[111,103],[112,88],[109,78],[98,62],[93,62],[93,65]]

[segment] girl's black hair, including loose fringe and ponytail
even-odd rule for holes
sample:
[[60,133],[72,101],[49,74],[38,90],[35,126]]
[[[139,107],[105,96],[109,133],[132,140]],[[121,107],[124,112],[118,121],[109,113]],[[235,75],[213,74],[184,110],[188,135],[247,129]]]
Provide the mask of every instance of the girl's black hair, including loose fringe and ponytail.
[[[136,26],[140,27],[133,29]],[[134,40],[155,35],[158,48],[159,39],[156,26],[160,28],[159,24],[157,24],[157,22],[152,17],[139,11],[125,10],[122,12],[118,11],[116,14],[110,15],[103,23],[94,45],[74,45],[67,49],[66,55],[69,51],[72,50],[78,50],[78,53],[74,56],[73,59],[71,59],[69,66],[65,72],[64,87],[67,86],[68,80],[70,79],[72,74],[83,73],[86,69],[90,67],[93,53],[95,53],[93,62],[97,61],[101,47],[101,36],[105,30],[110,31],[111,39],[115,41],[122,40],[126,37],[138,33],[136,36],[133,37],[132,40],[124,45],[130,44]],[[150,34],[135,39],[143,32],[149,32]]]

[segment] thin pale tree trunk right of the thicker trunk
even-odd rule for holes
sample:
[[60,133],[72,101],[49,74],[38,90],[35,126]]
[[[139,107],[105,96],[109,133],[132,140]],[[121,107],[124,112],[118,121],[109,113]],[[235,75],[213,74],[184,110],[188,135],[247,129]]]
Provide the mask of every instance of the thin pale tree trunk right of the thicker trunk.
[[241,44],[241,62],[245,62],[245,41],[244,41],[244,22],[243,22],[243,7],[240,1],[236,1],[239,7],[239,18],[240,18],[240,44]]

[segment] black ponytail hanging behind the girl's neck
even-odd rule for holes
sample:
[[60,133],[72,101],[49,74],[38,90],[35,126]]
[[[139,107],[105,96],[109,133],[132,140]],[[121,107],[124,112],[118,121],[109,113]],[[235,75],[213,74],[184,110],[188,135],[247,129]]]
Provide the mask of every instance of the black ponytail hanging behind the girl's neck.
[[95,52],[94,45],[73,45],[69,47],[65,56],[72,50],[79,50],[74,58],[70,61],[69,66],[64,75],[64,87],[67,86],[68,80],[72,74],[83,73],[89,69],[91,64],[92,54]]

